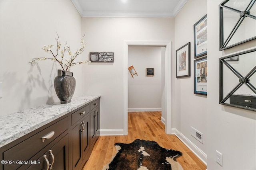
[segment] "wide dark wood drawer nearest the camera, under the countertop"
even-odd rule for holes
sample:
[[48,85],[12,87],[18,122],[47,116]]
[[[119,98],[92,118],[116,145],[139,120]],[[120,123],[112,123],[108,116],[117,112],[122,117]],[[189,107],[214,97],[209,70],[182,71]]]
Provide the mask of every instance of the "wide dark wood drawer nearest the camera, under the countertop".
[[[42,150],[46,145],[51,143],[59,135],[68,129],[68,117],[61,119],[60,121],[50,125],[46,129],[38,132],[36,135],[26,139],[25,141],[19,143],[18,145],[6,150],[3,153],[4,160],[29,160],[38,151]],[[42,142],[42,137],[50,134],[54,131],[54,135],[50,139],[45,139]],[[21,165],[15,164],[11,169],[16,169]],[[4,166],[4,169],[9,169],[8,165]]]

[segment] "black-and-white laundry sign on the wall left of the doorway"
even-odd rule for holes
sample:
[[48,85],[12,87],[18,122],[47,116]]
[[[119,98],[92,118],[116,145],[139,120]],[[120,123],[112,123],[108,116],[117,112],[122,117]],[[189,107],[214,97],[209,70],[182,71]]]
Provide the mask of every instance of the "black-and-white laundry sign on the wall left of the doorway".
[[90,52],[91,62],[112,62],[114,63],[114,53],[109,52]]

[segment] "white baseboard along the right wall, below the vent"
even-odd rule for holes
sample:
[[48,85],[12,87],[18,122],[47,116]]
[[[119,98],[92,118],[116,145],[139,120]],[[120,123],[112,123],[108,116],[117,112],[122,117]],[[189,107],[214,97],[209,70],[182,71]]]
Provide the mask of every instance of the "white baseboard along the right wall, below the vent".
[[176,135],[196,156],[207,165],[207,155],[199,149],[194,143],[180,133],[176,128],[172,128],[172,134]]

